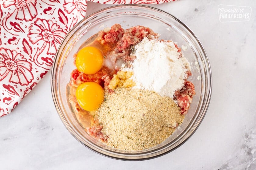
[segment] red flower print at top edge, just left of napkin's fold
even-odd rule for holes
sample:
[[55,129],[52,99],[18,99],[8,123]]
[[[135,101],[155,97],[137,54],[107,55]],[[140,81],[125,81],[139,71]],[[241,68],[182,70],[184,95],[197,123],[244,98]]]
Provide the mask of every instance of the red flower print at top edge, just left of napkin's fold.
[[64,10],[70,14],[72,11],[77,16],[77,12],[85,17],[87,2],[85,0],[65,0],[63,4]]

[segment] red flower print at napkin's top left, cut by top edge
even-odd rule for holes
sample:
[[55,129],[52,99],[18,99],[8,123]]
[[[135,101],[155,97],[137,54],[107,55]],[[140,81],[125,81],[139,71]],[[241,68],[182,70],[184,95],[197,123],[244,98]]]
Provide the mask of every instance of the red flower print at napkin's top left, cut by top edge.
[[15,19],[32,21],[37,15],[36,2],[37,0],[6,0],[3,6],[5,8],[12,5],[16,7],[13,12],[13,14],[16,13]]

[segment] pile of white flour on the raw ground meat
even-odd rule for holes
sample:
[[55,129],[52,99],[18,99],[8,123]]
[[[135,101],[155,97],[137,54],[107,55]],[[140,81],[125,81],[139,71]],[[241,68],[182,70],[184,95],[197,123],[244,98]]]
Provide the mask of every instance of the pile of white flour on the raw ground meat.
[[173,42],[144,38],[135,46],[133,62],[135,88],[152,90],[161,96],[173,98],[176,90],[184,86],[190,63],[175,48]]

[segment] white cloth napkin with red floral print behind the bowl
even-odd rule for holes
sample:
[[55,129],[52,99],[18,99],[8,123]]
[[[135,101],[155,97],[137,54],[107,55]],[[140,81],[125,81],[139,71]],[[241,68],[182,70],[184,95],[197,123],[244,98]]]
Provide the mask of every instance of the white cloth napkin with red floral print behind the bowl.
[[[175,0],[91,0],[159,4]],[[85,17],[87,0],[1,0],[0,117],[9,114],[52,67],[67,32]]]

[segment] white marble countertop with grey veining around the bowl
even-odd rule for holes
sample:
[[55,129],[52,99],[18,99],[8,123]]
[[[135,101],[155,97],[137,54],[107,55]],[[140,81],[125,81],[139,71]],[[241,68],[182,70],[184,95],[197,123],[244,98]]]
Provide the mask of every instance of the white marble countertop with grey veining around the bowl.
[[[251,18],[220,22],[220,4],[249,6]],[[255,1],[180,0],[153,6],[183,21],[208,54],[212,98],[194,135],[169,154],[147,161],[101,156],[62,124],[48,73],[11,114],[0,118],[0,169],[256,169]],[[89,3],[87,14],[103,7]]]

